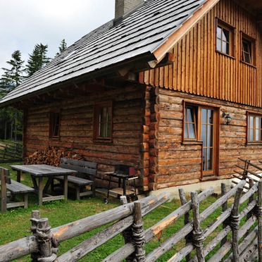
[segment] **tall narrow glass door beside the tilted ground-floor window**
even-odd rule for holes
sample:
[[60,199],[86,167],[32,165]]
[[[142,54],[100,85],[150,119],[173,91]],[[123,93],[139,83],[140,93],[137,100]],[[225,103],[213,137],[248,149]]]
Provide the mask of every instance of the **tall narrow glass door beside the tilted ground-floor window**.
[[201,140],[203,142],[203,176],[214,175],[214,110],[201,108]]

